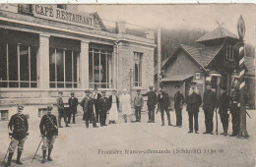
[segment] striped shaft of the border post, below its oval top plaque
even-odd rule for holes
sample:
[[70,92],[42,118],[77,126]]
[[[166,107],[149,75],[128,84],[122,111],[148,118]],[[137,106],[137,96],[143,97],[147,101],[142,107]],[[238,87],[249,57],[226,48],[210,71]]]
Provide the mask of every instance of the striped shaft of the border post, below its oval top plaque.
[[245,47],[244,42],[241,42],[239,47],[239,90],[240,90],[240,131],[238,138],[248,138],[246,130],[246,108],[245,108],[245,65],[244,65]]

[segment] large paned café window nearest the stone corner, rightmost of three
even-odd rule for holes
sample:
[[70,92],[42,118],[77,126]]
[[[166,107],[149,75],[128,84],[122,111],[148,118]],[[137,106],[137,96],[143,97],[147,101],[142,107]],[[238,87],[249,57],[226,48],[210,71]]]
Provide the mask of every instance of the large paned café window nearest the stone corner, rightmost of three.
[[111,58],[109,51],[90,49],[89,85],[90,88],[111,88]]

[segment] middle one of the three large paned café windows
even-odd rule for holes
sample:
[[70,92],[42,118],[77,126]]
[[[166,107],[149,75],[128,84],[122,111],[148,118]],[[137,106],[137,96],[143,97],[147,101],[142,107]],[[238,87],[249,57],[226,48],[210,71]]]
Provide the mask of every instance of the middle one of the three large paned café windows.
[[50,48],[50,87],[78,87],[79,53]]

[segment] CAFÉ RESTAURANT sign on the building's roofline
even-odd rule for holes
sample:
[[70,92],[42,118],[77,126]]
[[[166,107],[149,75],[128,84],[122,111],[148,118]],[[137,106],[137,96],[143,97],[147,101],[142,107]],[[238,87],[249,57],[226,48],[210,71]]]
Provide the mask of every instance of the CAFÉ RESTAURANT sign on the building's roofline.
[[37,18],[43,18],[86,28],[98,27],[92,15],[74,13],[50,5],[34,5],[33,15]]

